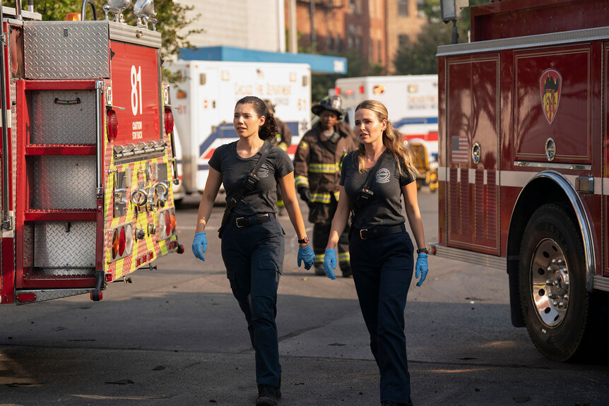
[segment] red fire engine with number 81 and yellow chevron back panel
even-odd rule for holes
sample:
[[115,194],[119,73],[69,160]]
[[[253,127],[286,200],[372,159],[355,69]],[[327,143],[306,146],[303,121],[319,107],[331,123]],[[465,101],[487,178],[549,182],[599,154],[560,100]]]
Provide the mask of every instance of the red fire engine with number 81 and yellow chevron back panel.
[[82,21],[42,21],[32,1],[0,8],[2,304],[98,301],[182,249],[161,36],[150,0],[135,4],[138,26],[122,22],[129,3]]

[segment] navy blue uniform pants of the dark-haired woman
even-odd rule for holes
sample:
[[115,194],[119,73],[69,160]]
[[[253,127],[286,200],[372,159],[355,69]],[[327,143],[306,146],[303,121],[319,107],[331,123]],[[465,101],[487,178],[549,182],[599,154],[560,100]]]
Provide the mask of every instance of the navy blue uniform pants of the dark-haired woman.
[[281,366],[275,316],[283,253],[283,229],[277,219],[244,228],[230,222],[222,236],[227,277],[245,315],[256,353],[258,385],[279,386]]

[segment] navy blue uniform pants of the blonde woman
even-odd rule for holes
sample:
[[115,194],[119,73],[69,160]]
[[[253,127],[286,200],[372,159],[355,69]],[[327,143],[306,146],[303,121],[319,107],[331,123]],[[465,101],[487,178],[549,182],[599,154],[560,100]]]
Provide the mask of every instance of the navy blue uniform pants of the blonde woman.
[[406,231],[378,239],[350,238],[353,281],[381,374],[381,401],[408,403],[410,398],[404,309],[413,249]]

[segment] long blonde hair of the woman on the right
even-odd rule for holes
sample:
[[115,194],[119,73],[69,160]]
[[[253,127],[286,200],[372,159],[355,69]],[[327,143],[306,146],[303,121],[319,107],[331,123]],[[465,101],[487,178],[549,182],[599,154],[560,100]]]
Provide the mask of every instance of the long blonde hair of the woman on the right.
[[[385,146],[387,153],[389,153],[398,163],[398,171],[401,175],[404,174],[404,169],[406,169],[406,171],[416,178],[418,170],[413,164],[412,153],[406,148],[406,145],[404,145],[400,133],[394,129],[394,126],[392,126],[389,119],[387,119],[387,108],[383,103],[378,100],[364,100],[355,107],[356,112],[359,109],[371,110],[374,114],[377,114],[377,119],[379,119],[380,122],[383,122],[383,120],[387,122],[382,135],[383,145]],[[358,169],[360,172],[364,172],[366,169],[364,144],[360,143],[360,146],[355,153],[355,157],[357,157]],[[406,168],[402,168],[402,163]]]

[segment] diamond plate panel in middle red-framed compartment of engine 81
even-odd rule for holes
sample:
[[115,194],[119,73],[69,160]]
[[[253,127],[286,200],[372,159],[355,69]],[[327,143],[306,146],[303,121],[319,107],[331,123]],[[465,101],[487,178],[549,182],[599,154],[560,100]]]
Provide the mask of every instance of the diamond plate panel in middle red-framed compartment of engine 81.
[[92,155],[28,157],[33,173],[30,207],[37,210],[95,208],[97,167]]

